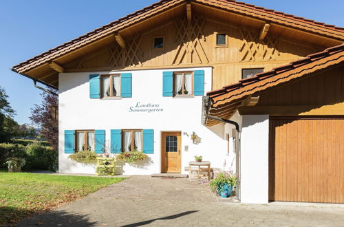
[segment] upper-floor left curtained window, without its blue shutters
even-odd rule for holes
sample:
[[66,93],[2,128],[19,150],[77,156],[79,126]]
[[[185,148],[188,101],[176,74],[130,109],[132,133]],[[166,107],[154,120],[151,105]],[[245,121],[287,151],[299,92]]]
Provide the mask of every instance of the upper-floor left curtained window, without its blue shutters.
[[100,76],[102,98],[120,97],[120,75]]

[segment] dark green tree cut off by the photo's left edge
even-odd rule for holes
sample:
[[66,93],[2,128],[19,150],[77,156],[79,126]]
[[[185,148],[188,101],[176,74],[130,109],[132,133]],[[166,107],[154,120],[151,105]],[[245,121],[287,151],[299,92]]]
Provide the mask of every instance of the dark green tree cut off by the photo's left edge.
[[18,125],[13,120],[15,111],[10,107],[8,102],[8,95],[5,89],[0,87],[0,142],[8,142],[14,136],[13,127]]

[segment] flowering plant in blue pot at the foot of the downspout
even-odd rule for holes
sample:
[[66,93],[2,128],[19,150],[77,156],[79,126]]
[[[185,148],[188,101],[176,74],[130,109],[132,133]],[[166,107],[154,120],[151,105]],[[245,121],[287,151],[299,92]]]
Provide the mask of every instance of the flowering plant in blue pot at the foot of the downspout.
[[236,182],[237,177],[233,171],[224,171],[215,175],[214,179],[209,183],[209,186],[211,187],[211,191],[216,192],[223,198],[226,198],[232,193]]

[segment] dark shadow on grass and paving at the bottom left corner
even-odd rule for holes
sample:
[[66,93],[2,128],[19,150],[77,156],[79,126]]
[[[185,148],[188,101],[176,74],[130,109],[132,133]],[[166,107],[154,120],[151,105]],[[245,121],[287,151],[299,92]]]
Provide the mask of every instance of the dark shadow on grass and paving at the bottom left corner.
[[17,226],[96,226],[98,221],[90,221],[88,215],[51,211],[24,219]]

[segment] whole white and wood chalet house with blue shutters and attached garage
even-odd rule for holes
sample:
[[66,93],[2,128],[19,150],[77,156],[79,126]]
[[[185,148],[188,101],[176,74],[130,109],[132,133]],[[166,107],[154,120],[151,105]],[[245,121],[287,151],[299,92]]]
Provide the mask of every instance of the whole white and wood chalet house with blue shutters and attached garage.
[[[223,0],[162,0],[12,70],[58,89],[58,171],[233,170],[241,202],[344,202],[344,29]],[[315,54],[314,54],[315,53]]]

